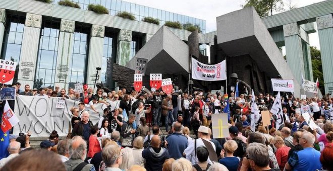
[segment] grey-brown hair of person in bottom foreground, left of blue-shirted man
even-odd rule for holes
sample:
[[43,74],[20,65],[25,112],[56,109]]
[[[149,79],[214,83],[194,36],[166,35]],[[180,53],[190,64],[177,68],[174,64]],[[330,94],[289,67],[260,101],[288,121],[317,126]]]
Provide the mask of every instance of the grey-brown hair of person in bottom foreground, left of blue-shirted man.
[[267,146],[261,143],[251,143],[246,148],[249,159],[252,159],[255,165],[265,167],[269,164],[269,153]]

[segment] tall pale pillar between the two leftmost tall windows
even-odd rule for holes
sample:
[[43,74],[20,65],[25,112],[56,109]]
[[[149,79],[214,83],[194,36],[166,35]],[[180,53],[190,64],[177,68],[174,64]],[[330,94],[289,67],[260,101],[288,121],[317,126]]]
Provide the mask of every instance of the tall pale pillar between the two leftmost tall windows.
[[18,81],[32,88],[35,81],[38,45],[40,39],[41,15],[27,13],[22,38]]

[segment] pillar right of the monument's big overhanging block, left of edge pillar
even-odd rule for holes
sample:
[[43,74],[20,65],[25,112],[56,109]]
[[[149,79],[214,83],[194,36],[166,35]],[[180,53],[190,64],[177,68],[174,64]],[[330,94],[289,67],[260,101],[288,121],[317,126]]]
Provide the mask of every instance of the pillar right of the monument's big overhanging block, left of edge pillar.
[[302,82],[304,74],[304,59],[300,26],[295,22],[283,26],[287,64],[298,82]]

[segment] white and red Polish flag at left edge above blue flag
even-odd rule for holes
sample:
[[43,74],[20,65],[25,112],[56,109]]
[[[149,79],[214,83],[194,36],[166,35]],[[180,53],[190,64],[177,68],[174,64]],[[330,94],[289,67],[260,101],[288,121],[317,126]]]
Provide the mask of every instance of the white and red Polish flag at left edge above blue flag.
[[8,102],[6,101],[3,113],[3,121],[1,122],[1,129],[3,132],[7,132],[19,122],[20,120],[15,116],[15,113],[11,107],[9,107]]

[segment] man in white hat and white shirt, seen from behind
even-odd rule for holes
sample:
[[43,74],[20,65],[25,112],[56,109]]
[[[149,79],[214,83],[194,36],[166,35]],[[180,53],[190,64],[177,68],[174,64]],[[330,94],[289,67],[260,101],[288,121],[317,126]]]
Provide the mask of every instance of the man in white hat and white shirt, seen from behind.
[[[192,165],[196,164],[198,162],[198,158],[195,155],[195,147],[198,148],[199,146],[204,146],[207,149],[209,147],[207,147],[204,144],[204,141],[208,142],[211,144],[211,146],[213,147],[214,151],[216,150],[215,144],[211,141],[208,140],[208,134],[209,134],[209,130],[208,127],[205,126],[200,126],[198,129],[198,139],[193,140],[188,146],[187,148],[184,150],[183,155],[186,156],[186,159],[188,159],[189,161],[192,162]],[[196,141],[196,142],[195,142]],[[208,150],[209,151],[209,150]],[[210,158],[208,157],[207,162],[209,164],[212,164],[212,161],[210,160]]]

